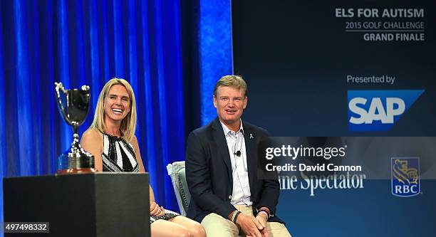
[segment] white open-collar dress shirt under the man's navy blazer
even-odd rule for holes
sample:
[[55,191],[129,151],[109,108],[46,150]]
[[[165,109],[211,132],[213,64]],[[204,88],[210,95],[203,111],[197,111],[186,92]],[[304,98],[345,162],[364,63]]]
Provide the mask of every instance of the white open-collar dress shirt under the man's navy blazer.
[[[221,121],[219,121],[221,122]],[[233,175],[233,191],[231,204],[251,206],[250,201],[250,183],[248,177],[248,167],[246,164],[246,150],[244,139],[244,128],[239,127],[237,132],[229,130],[229,128],[221,122],[224,136],[226,137],[227,147],[229,147],[230,161],[232,162],[232,175]],[[241,152],[237,156],[237,152]]]

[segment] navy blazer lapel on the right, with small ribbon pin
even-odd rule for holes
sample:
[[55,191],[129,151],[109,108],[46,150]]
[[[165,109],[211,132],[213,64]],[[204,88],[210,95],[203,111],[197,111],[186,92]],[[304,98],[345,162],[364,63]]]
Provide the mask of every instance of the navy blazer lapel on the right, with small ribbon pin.
[[246,166],[248,168],[248,174],[249,174],[250,192],[251,192],[251,196],[253,196],[253,194],[255,194],[256,191],[254,190],[256,188],[254,184],[256,184],[256,164],[257,164],[256,135],[254,134],[253,130],[251,130],[251,127],[244,125],[244,122],[242,122],[242,125],[244,126]]

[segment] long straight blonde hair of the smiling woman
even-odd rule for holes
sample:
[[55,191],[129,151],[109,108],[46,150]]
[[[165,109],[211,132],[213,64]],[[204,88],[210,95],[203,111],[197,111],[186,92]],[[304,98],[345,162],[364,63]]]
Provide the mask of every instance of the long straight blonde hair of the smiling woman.
[[121,136],[130,142],[133,136],[135,135],[136,129],[136,100],[135,94],[133,94],[132,86],[128,83],[127,80],[120,78],[112,78],[110,79],[103,89],[101,89],[100,95],[98,96],[97,107],[95,107],[95,115],[93,123],[90,125],[90,129],[95,129],[100,132],[106,132],[105,126],[105,98],[109,93],[110,88],[113,85],[123,85],[125,89],[128,91],[130,98],[130,112],[127,116],[121,121],[120,132]]

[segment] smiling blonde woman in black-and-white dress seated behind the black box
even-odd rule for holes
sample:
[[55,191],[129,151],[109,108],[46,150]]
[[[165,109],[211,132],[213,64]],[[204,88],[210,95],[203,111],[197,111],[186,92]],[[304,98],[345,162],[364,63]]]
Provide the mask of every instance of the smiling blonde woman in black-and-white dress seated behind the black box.
[[[93,124],[83,133],[83,149],[95,157],[103,172],[145,172],[135,137],[136,102],[130,84],[113,78],[98,97]],[[150,223],[153,237],[205,237],[202,226],[190,218],[165,210],[155,202],[150,186]]]

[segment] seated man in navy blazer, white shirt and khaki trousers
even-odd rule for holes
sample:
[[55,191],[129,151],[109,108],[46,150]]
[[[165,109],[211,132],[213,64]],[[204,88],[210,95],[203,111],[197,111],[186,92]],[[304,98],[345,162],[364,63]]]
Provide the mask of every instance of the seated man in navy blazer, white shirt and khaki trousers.
[[276,214],[279,181],[258,179],[257,147],[266,130],[242,122],[248,98],[242,77],[227,75],[214,88],[218,117],[191,132],[186,175],[192,196],[187,216],[208,237],[291,236]]

